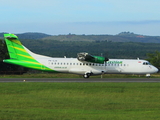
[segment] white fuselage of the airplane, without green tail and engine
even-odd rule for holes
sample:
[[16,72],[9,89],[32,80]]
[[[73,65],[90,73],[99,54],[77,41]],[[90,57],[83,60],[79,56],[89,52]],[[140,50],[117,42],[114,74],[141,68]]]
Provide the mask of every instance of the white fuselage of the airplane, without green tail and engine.
[[[75,74],[152,74],[158,69],[146,60],[109,59],[104,64],[79,61],[77,58],[52,58],[32,53],[25,48],[39,63],[57,71]],[[42,68],[45,70],[45,68]]]

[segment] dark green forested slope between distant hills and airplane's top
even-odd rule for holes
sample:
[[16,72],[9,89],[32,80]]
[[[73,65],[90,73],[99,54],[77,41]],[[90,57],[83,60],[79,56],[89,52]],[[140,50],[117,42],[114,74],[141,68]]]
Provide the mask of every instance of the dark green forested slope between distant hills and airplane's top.
[[21,40],[32,52],[51,57],[76,57],[79,52],[117,59],[147,59],[147,53],[160,50],[159,43],[110,41]]

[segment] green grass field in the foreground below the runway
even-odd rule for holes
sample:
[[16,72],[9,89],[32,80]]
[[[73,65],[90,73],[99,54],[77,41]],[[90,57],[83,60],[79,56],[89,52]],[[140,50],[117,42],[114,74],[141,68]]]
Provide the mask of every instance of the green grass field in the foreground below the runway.
[[159,120],[160,83],[0,83],[0,120]]

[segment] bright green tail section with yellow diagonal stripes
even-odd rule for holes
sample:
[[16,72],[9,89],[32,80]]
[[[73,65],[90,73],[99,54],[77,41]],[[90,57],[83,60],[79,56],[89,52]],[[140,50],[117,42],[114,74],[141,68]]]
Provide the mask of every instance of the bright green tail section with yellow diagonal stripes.
[[16,35],[4,34],[4,39],[10,56],[10,59],[5,59],[3,60],[4,62],[32,69],[51,71],[50,68],[47,68],[32,57],[34,53],[25,48]]

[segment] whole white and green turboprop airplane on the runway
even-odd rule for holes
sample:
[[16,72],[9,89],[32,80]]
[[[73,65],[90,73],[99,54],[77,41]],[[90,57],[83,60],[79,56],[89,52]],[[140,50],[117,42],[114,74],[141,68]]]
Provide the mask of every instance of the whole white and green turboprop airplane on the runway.
[[21,44],[14,34],[4,34],[10,59],[5,63],[16,64],[27,68],[64,72],[83,75],[89,78],[91,75],[101,74],[146,74],[158,72],[158,69],[146,60],[140,59],[108,59],[101,56],[93,56],[82,52],[77,58],[55,58],[39,55],[31,52]]

